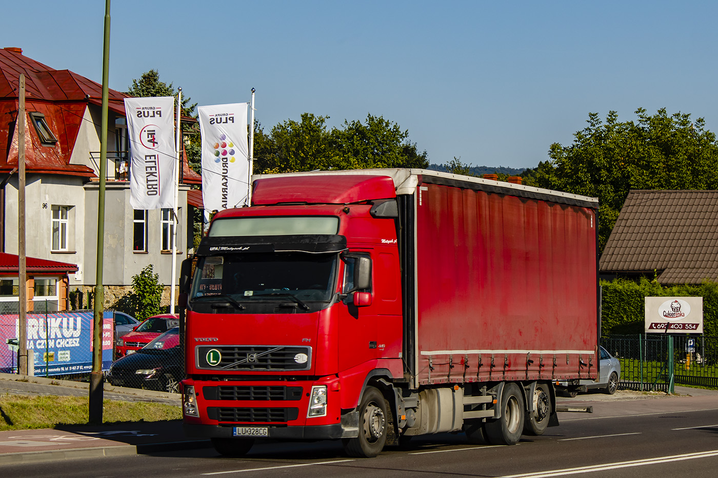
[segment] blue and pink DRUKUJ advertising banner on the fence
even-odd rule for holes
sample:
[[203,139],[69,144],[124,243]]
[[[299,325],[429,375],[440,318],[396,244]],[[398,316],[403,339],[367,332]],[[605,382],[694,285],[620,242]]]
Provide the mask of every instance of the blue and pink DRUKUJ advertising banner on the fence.
[[[34,351],[34,375],[92,372],[92,311],[27,314],[27,350]],[[113,312],[103,314],[102,368],[112,363]],[[18,314],[0,315],[0,372],[17,373]]]

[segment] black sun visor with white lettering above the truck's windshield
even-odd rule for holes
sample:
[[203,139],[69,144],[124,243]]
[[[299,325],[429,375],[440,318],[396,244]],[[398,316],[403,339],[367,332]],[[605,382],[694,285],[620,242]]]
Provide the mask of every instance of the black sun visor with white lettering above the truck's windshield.
[[301,251],[331,253],[347,248],[343,235],[245,235],[202,238],[197,256],[218,256],[236,253],[268,253]]

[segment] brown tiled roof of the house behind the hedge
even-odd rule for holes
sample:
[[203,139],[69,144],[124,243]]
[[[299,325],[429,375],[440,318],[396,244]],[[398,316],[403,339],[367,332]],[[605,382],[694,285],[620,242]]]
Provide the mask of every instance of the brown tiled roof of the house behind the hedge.
[[718,191],[628,193],[601,273],[658,273],[658,282],[718,281]]

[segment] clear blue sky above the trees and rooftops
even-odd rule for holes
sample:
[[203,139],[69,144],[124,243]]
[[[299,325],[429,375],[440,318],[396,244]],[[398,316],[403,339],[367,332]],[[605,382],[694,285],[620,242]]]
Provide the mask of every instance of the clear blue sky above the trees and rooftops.
[[[101,0],[11,2],[0,47],[100,82]],[[115,0],[110,87],[151,68],[200,105],[383,116],[432,163],[535,167],[589,112],[718,131],[718,2]]]

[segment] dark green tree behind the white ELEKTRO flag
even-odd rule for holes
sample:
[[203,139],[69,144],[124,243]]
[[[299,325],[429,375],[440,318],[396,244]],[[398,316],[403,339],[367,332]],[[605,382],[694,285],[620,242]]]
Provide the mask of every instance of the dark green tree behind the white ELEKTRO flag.
[[[174,90],[172,83],[164,83],[159,80],[159,72],[157,70],[149,70],[140,76],[139,80],[132,80],[132,85],[127,91],[128,95],[136,98],[147,98],[150,96],[177,96],[177,90]],[[187,118],[197,118],[195,108],[197,103],[190,103],[189,95],[182,92],[182,116]],[[177,114],[177,111],[174,111]],[[185,153],[190,167],[201,174],[202,166],[202,142],[200,139],[200,128],[196,121],[182,121],[182,140],[185,144]]]

